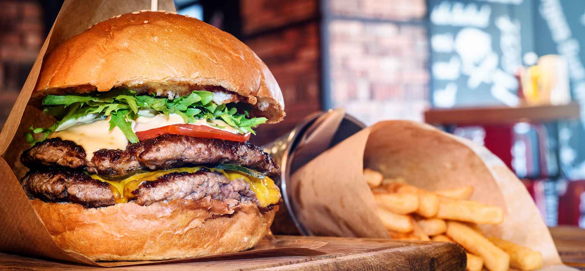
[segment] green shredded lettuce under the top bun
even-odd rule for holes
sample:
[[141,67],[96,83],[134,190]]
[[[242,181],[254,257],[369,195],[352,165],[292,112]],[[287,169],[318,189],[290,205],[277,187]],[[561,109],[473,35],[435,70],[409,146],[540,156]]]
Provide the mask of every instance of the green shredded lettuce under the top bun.
[[[140,112],[158,112],[161,114],[178,114],[186,123],[198,119],[219,119],[241,133],[256,134],[256,126],[265,123],[265,117],[250,117],[247,110],[238,110],[235,103],[216,105],[212,102],[214,95],[209,91],[193,91],[189,95],[170,100],[154,95],[136,95],[129,89],[112,90],[106,93],[85,95],[47,95],[43,99],[45,114],[54,116],[57,122],[51,127],[30,127],[26,140],[34,145],[42,141],[53,131],[64,130],[78,123],[90,123],[110,116],[110,130],[119,127],[131,143],[138,142],[132,131],[130,120],[140,116]],[[42,140],[37,140],[39,137]]]

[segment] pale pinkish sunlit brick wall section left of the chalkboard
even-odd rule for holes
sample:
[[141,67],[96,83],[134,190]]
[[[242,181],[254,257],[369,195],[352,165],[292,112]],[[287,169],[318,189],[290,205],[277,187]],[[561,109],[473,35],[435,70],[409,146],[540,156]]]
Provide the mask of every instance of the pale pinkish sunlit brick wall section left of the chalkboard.
[[331,0],[328,11],[332,107],[346,107],[367,124],[422,120],[429,81],[425,2]]

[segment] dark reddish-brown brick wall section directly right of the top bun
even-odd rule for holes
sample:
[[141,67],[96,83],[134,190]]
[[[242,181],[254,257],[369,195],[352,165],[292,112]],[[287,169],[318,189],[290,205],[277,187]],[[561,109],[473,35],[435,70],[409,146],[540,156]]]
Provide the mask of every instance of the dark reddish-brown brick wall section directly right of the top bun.
[[250,140],[262,145],[292,130],[321,109],[318,1],[242,1],[243,41],[274,74],[283,92],[287,116],[265,124]]

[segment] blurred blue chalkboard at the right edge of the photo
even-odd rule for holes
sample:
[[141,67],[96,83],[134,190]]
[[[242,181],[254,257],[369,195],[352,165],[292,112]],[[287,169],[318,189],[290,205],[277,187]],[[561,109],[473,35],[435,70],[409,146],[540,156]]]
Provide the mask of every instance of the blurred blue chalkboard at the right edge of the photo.
[[585,179],[585,1],[541,0],[534,14],[536,54],[565,58],[572,98],[581,105],[580,121],[559,127],[560,164],[569,178]]

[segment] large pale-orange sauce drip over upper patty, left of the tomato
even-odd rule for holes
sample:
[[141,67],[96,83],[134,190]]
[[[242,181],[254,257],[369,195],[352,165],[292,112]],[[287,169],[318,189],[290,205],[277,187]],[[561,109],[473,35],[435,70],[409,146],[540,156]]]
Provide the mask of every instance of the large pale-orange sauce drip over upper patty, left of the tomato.
[[101,149],[126,150],[128,138],[117,126],[111,131],[108,119],[98,120],[92,123],[76,125],[63,131],[51,133],[48,138],[59,137],[62,140],[71,140],[85,150],[85,158],[90,161],[94,157],[94,151]]

